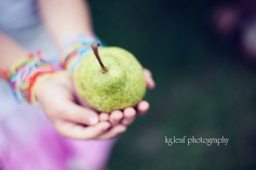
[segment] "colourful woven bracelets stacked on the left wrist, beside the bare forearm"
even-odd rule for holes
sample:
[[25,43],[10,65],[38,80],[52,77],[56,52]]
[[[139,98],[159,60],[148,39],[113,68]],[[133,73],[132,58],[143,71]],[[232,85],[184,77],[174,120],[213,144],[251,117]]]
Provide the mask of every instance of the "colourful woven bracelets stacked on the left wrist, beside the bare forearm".
[[61,70],[60,67],[46,61],[42,58],[41,52],[37,55],[29,54],[22,61],[16,63],[8,72],[8,81],[12,87],[14,96],[18,101],[27,101],[36,103],[31,90],[34,88],[37,78],[51,76],[55,71]]

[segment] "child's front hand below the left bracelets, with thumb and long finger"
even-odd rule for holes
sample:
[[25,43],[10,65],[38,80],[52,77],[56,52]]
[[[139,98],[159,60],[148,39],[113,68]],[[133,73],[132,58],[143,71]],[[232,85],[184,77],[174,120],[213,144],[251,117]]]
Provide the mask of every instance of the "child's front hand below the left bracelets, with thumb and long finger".
[[99,122],[95,111],[77,105],[74,90],[72,78],[64,74],[46,79],[37,86],[35,93],[60,134],[76,139],[96,138],[109,129],[111,123]]

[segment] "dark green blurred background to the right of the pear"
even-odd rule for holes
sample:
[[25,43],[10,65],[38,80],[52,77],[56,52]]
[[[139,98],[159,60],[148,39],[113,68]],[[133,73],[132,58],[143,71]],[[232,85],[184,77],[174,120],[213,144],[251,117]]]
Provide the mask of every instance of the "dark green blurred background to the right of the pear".
[[[150,111],[121,135],[107,169],[256,168],[256,63],[216,40],[213,1],[89,4],[95,33],[134,53],[156,81]],[[229,141],[168,146],[165,136]]]

